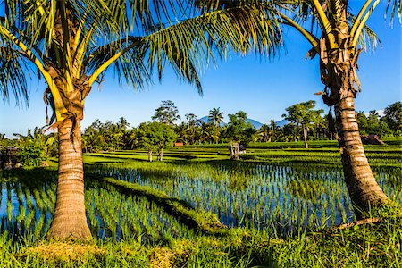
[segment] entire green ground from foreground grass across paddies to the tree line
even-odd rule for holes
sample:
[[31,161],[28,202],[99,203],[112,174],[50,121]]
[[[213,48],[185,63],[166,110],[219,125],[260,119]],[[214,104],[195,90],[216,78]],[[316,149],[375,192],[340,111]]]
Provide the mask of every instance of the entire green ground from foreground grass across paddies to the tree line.
[[[365,147],[384,192],[402,205],[402,139]],[[44,236],[56,163],[2,172],[2,267],[400,267],[400,209],[353,222],[336,142],[255,143],[84,155],[89,243]]]

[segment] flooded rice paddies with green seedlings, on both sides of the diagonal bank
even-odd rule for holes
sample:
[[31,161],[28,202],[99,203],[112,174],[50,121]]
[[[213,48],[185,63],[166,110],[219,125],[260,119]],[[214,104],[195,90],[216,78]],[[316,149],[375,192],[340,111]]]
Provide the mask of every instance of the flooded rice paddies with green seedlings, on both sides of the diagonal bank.
[[[230,227],[269,230],[279,236],[355,219],[343,173],[336,167],[138,163],[131,168],[91,166],[87,173],[159,189],[194,208],[217,214]],[[1,185],[2,232],[14,237],[45,235],[54,210],[56,173],[38,170],[9,176]],[[402,204],[400,169],[379,169],[375,177],[384,192]],[[86,181],[86,206],[90,229],[100,239],[163,242],[194,232],[146,197],[123,194],[97,180]]]

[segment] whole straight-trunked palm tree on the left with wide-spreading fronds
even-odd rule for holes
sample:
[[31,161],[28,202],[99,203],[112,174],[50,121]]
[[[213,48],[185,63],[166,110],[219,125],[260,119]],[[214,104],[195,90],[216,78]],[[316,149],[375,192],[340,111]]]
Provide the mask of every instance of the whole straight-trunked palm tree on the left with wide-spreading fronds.
[[[46,80],[49,124],[59,133],[59,176],[48,237],[89,239],[80,121],[84,103],[105,71],[141,88],[169,63],[201,93],[197,70],[229,49],[274,54],[281,43],[276,24],[254,4],[200,13],[188,1],[4,0],[0,20],[2,95],[28,98],[26,75]],[[188,8],[190,7],[190,8]],[[182,20],[181,20],[182,19]],[[265,27],[270,25],[270,27]],[[267,38],[270,30],[273,38]]]

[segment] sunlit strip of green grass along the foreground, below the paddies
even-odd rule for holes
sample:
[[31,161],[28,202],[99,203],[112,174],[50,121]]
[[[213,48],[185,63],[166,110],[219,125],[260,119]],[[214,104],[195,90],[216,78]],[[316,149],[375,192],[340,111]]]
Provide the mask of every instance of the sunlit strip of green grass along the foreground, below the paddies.
[[346,230],[299,232],[272,239],[264,232],[231,229],[166,245],[140,239],[89,243],[38,241],[13,246],[0,237],[1,267],[400,267],[400,216]]

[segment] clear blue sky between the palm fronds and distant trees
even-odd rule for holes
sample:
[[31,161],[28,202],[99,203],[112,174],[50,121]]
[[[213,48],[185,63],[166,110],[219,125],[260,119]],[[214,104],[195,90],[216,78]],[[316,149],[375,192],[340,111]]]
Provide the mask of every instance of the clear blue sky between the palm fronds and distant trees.
[[[382,47],[359,58],[362,92],[356,98],[358,111],[381,110],[401,100],[401,26],[395,22],[391,29],[383,13],[380,6],[368,21]],[[271,119],[280,121],[286,107],[310,99],[317,102],[317,108],[328,111],[321,97],[314,96],[314,92],[323,89],[318,59],[305,59],[310,46],[296,31],[285,29],[284,35],[286,49],[272,61],[254,54],[244,57],[232,54],[226,62],[218,63],[217,68],[211,66],[203,71],[204,96],[178,80],[172,70],[165,72],[162,83],[155,80],[140,91],[120,86],[112,74],[106,75],[100,91],[94,87],[87,98],[82,130],[96,118],[118,121],[121,116],[130,126],[138,126],[142,121],[151,121],[155,108],[163,100],[175,103],[182,120],[186,113],[201,118],[212,108],[220,107],[225,120],[228,113],[243,110],[249,118],[262,123]],[[13,133],[25,134],[29,128],[45,125],[44,89],[43,83],[32,80],[29,108],[16,106],[13,99],[9,103],[0,101],[0,133],[12,137]]]

